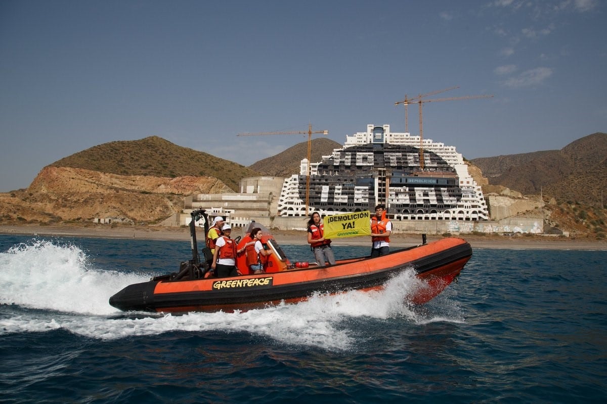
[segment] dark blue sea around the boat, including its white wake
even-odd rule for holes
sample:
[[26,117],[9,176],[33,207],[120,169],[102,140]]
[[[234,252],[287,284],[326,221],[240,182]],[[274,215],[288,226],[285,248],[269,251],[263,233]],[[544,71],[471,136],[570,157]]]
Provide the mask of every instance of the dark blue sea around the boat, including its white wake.
[[607,251],[476,249],[458,283],[416,308],[410,273],[381,293],[245,313],[107,303],[190,254],[189,242],[0,236],[0,402],[607,399]]

